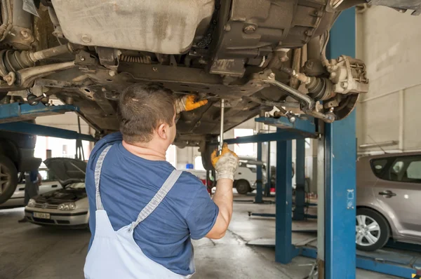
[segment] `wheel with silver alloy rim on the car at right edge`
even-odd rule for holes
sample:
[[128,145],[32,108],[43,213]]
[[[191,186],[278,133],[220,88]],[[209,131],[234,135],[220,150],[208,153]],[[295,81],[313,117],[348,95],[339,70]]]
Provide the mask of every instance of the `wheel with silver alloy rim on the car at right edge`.
[[356,249],[358,250],[375,251],[380,249],[389,240],[389,223],[383,215],[375,210],[357,208],[355,237]]

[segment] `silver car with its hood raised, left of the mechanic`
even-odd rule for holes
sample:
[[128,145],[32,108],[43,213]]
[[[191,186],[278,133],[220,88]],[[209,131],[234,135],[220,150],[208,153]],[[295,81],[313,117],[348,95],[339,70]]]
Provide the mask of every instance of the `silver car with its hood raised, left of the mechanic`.
[[87,227],[86,163],[72,158],[50,158],[44,163],[62,187],[29,200],[25,217],[39,225]]

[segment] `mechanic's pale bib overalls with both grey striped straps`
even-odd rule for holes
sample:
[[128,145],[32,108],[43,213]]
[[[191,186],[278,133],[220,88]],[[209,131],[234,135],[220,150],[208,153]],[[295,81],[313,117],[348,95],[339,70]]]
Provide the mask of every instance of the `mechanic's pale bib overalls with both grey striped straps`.
[[[95,165],[95,188],[96,188],[96,227],[95,236],[91,249],[88,252],[83,272],[87,279],[149,279],[149,278],[190,278],[192,275],[179,275],[170,271],[161,264],[152,261],[135,243],[133,231],[136,226],[145,220],[165,198],[171,190],[181,171],[174,170],[163,183],[161,189],[154,198],[142,209],[136,219],[131,224],[123,226],[118,231],[114,231],[107,212],[102,207],[100,196],[100,175],[102,162],[111,146],[102,151],[100,158]],[[159,226],[159,224],[157,224]],[[165,256],[165,255],[163,255]],[[190,261],[190,268],[194,271],[193,256]]]

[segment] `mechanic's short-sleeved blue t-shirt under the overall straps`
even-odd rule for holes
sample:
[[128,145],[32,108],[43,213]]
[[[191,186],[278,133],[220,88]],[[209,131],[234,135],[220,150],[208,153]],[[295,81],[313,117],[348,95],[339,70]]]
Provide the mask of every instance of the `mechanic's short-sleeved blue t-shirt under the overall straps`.
[[[120,132],[102,138],[93,149],[86,170],[86,191],[91,212],[91,247],[95,236],[95,164],[105,147],[112,144],[102,164],[100,195],[114,230],[131,224],[174,170],[166,161],[149,161],[127,151]],[[171,271],[188,275],[192,239],[200,239],[212,229],[218,206],[206,186],[182,172],[171,191],[133,233],[142,252]]]

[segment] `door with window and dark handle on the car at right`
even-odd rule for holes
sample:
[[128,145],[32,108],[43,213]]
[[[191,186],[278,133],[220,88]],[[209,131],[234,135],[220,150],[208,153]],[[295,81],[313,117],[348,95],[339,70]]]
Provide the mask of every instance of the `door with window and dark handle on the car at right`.
[[394,158],[373,191],[396,226],[396,238],[421,240],[421,156]]

